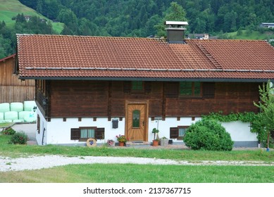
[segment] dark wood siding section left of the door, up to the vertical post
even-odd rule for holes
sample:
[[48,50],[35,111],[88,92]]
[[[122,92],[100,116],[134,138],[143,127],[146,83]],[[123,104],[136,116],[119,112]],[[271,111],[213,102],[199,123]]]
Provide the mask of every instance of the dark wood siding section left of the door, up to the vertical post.
[[107,117],[108,82],[51,81],[51,117]]

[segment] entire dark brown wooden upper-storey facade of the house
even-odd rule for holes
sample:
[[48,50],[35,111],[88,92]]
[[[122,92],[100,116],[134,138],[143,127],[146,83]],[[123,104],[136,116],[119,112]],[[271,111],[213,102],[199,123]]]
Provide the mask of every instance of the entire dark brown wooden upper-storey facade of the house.
[[[258,112],[260,83],[199,82],[198,96],[180,95],[180,82],[51,80],[37,82],[45,117],[125,117],[125,103],[147,103],[148,117],[199,117],[211,112]],[[41,84],[44,84],[43,86]]]

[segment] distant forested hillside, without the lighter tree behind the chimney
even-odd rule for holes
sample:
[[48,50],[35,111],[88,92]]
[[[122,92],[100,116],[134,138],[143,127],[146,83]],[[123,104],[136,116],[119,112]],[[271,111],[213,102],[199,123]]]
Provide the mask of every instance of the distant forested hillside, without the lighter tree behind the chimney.
[[[156,34],[175,0],[20,0],[48,18],[66,23],[72,34],[147,37]],[[189,32],[235,32],[240,27],[274,23],[273,0],[177,0]],[[77,32],[77,29],[78,30]]]

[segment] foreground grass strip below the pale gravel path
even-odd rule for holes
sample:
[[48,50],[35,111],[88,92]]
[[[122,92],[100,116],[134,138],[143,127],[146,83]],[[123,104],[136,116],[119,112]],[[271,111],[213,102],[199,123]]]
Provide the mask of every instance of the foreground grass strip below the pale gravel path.
[[[123,176],[119,176],[122,174]],[[274,167],[93,164],[0,172],[8,183],[273,183]]]

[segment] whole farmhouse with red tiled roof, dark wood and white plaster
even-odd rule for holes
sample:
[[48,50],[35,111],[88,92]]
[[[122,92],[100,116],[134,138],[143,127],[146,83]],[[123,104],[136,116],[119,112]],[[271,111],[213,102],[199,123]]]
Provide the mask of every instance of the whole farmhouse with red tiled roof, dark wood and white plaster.
[[[211,112],[258,112],[259,85],[274,80],[274,49],[264,41],[166,40],[17,34],[15,65],[35,80],[37,142],[97,144],[125,134],[182,143],[185,129]],[[257,146],[249,123],[225,125],[235,146]]]

